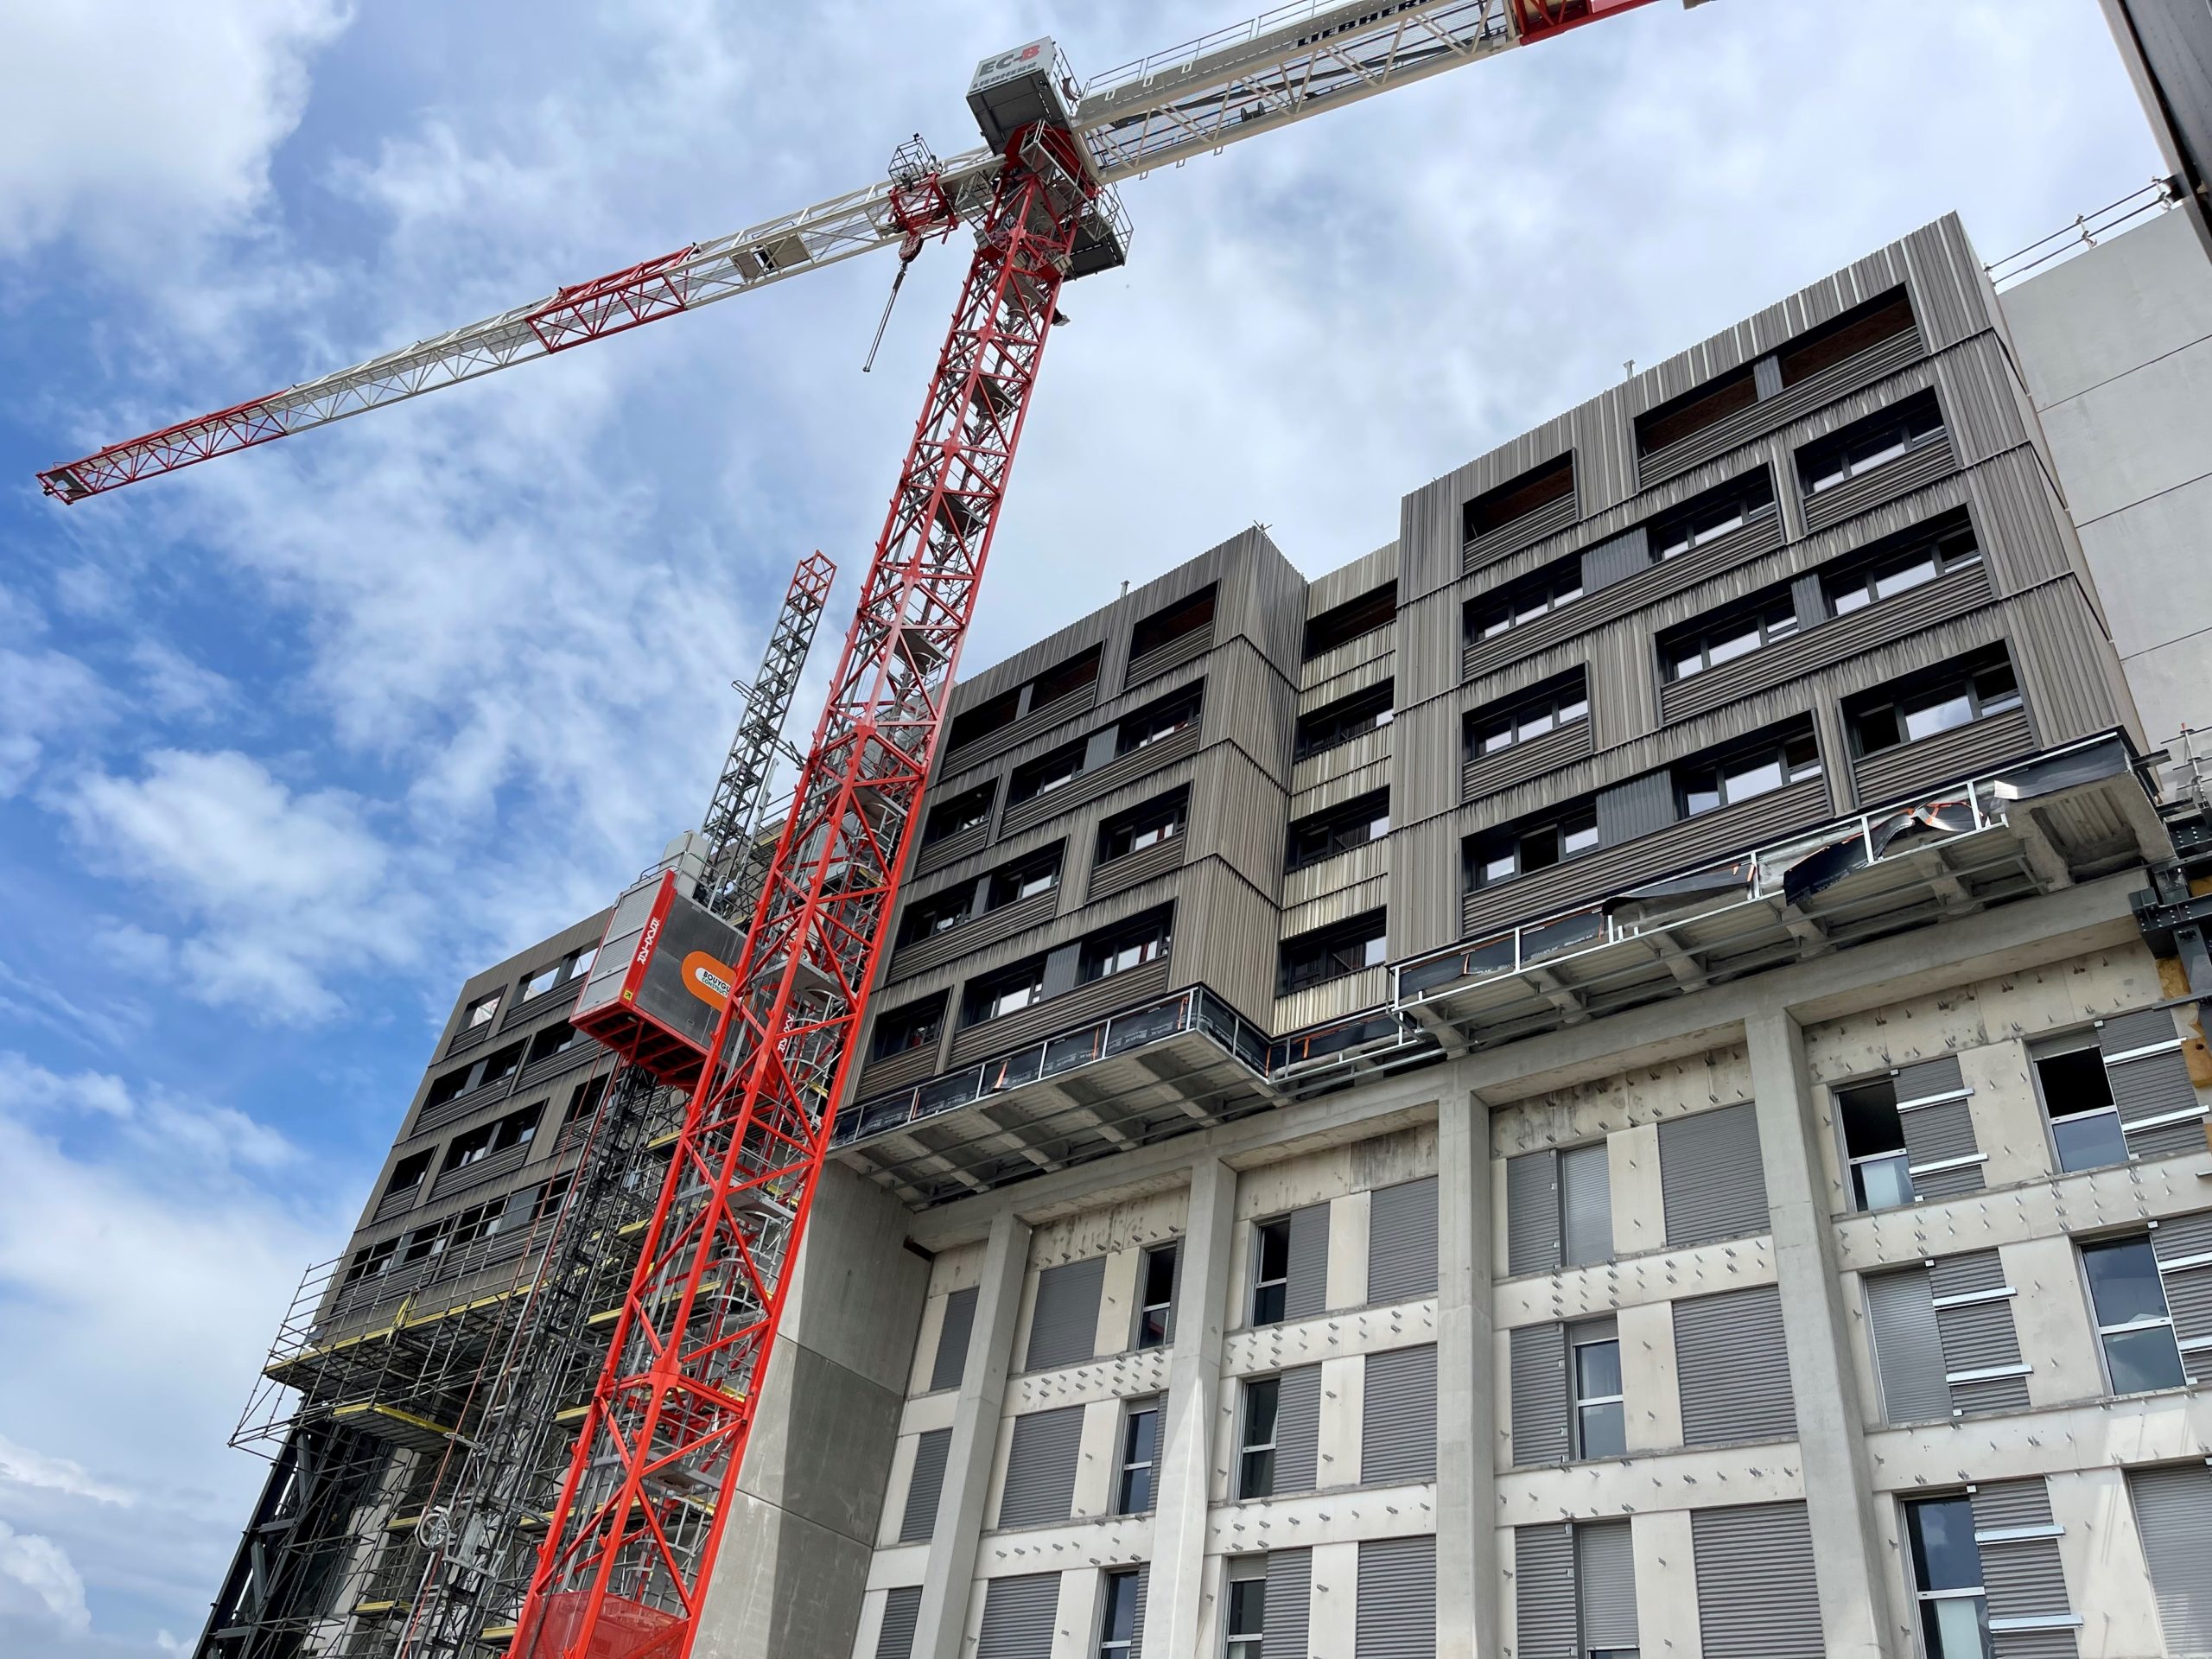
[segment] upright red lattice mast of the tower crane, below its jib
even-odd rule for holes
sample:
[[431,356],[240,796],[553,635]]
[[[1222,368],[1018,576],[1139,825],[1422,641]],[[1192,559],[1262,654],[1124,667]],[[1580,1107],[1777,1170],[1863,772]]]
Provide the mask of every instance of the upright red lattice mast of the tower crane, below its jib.
[[1015,142],[922,405],[513,1652],[675,1659],[714,1566],[832,1104],[1093,186]]

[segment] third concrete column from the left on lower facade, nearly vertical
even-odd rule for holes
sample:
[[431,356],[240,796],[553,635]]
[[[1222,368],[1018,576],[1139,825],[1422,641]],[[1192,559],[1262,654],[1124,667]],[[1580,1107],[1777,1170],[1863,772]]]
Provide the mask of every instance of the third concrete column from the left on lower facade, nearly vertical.
[[1436,1659],[1498,1655],[1498,1385],[1491,1124],[1449,1095],[1436,1124]]

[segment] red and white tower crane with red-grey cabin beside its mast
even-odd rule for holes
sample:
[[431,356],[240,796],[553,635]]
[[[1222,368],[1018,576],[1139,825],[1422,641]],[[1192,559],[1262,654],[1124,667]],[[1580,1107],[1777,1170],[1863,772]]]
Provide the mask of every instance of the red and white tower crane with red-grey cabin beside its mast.
[[80,502],[874,248],[911,261],[973,232],[752,925],[730,962],[692,949],[681,964],[684,993],[712,1002],[719,987],[710,1035],[639,1011],[686,920],[714,920],[666,883],[617,902],[577,1006],[580,1026],[692,1093],[511,1652],[692,1650],[1060,290],[1128,257],[1117,186],[1646,4],[1296,0],[1088,82],[1033,40],[975,69],[975,150],[940,161],[914,139],[860,190],[40,473]]

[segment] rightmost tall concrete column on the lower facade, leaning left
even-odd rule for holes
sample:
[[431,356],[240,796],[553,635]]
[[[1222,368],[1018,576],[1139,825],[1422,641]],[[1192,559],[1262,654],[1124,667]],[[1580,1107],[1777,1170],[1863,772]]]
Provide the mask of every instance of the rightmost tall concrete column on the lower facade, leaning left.
[[1805,1509],[1820,1579],[1820,1626],[1829,1659],[1891,1659],[1882,1613],[1882,1535],[1874,1520],[1867,1413],[1851,1365],[1849,1318],[1823,1203],[1805,1033],[1787,1013],[1745,1020],[1759,1150],[1783,1292],[1783,1338],[1796,1385]]

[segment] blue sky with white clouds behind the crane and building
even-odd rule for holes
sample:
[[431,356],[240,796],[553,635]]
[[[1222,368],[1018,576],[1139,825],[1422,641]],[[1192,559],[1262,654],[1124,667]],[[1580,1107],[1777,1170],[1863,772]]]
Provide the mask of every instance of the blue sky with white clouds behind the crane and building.
[[[0,1652],[159,1655],[456,982],[697,821],[790,564],[867,555],[960,259],[865,378],[889,261],[66,511],[33,469],[858,186],[911,131],[964,148],[987,51],[1095,71],[1232,18],[0,13]],[[969,664],[1252,520],[1338,564],[1626,358],[1944,210],[1995,257],[2152,173],[2095,0],[1719,0],[1135,184]]]

